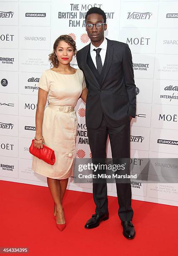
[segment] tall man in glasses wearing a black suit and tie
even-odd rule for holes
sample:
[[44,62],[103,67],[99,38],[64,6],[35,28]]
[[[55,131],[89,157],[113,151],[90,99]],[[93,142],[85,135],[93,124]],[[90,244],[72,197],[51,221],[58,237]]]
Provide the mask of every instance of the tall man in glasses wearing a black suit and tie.
[[[136,93],[132,56],[128,44],[104,37],[106,15],[100,8],[91,8],[85,16],[86,31],[91,43],[77,53],[78,67],[83,71],[88,88],[86,126],[93,163],[105,163],[109,135],[113,163],[130,159],[130,120],[135,118]],[[128,161],[129,163],[129,161]],[[129,167],[125,173],[128,174]],[[130,182],[116,182],[123,235],[134,238],[131,222]],[[107,184],[93,182],[96,205],[85,228],[95,228],[109,218]]]

